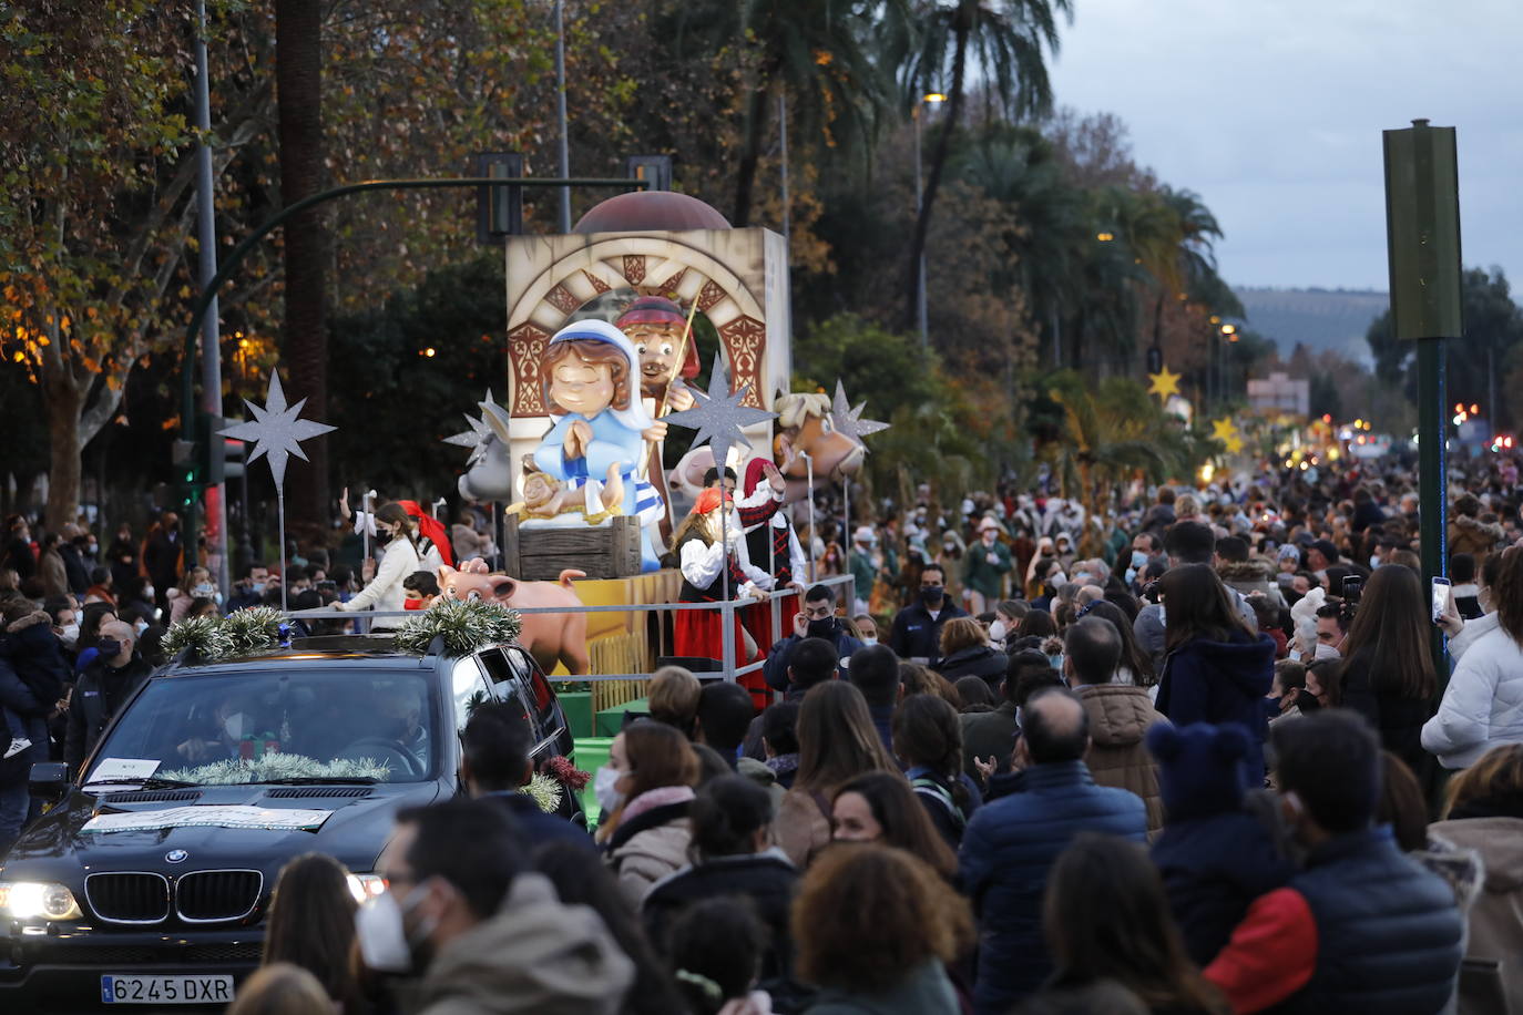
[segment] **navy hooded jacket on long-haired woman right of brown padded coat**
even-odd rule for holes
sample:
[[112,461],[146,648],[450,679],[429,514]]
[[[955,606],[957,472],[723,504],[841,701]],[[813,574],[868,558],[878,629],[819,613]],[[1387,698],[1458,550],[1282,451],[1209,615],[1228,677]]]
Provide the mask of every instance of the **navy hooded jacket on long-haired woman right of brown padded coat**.
[[1275,683],[1275,639],[1260,635],[1214,642],[1203,638],[1168,653],[1157,685],[1157,711],[1174,726],[1241,723],[1252,735],[1243,756],[1249,787],[1264,785],[1264,695]]

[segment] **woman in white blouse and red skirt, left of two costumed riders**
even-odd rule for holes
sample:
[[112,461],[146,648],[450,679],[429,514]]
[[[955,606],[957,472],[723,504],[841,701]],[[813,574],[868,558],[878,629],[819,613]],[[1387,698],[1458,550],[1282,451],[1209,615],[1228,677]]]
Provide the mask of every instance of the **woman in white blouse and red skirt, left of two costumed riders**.
[[[723,508],[720,508],[723,504]],[[720,519],[728,517],[722,522]],[[720,603],[723,600],[763,600],[772,589],[772,575],[751,563],[746,539],[734,501],[717,487],[704,490],[693,511],[672,537],[672,554],[682,571],[679,603]],[[675,647],[679,656],[723,659],[723,621],[719,610],[678,610]],[[736,665],[760,659],[757,642],[734,619]],[[745,674],[739,683],[752,700],[769,694],[762,671]]]

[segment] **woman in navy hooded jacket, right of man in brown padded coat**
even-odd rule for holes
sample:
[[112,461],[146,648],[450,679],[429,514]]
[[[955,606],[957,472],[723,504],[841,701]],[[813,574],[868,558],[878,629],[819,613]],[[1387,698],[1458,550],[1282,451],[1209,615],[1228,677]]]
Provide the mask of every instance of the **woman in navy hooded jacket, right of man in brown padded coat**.
[[1167,656],[1157,711],[1176,726],[1238,723],[1252,737],[1247,785],[1264,782],[1263,698],[1275,683],[1275,641],[1258,633],[1208,565],[1170,569],[1161,583]]

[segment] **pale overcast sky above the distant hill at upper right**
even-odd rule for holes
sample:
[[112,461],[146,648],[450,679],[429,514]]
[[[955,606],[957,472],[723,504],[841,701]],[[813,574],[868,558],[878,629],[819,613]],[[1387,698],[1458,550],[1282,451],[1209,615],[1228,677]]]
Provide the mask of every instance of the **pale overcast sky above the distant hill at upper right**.
[[1196,190],[1240,286],[1387,286],[1380,131],[1459,131],[1467,265],[1523,292],[1518,0],[1074,0],[1062,105],[1110,111]]

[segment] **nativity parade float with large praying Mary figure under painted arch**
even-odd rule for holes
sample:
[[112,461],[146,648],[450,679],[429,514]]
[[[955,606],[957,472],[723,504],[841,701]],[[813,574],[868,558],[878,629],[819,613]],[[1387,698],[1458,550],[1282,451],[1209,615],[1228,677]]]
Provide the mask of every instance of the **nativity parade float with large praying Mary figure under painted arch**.
[[[568,590],[586,607],[635,607],[577,615],[582,674],[649,674],[693,651],[673,610],[638,607],[693,601],[678,562],[663,566],[663,555],[716,455],[740,487],[719,530],[749,528],[751,558],[778,587],[806,581],[793,574],[790,505],[807,520],[810,487],[854,473],[864,455],[856,434],[871,426],[856,426],[860,405],[833,420],[839,406],[829,396],[789,393],[783,237],[731,228],[687,195],[635,192],[597,204],[571,234],[507,237],[506,268],[507,397],[496,403],[489,393],[480,415],[468,415],[471,431],[451,438],[471,449],[458,487],[501,519],[507,580]],[[694,391],[705,362],[714,364],[707,394]],[[710,440],[716,414],[733,440]],[[664,453],[676,434],[667,423],[684,420],[699,429],[693,447]],[[728,574],[716,580],[716,597],[739,592]],[[765,653],[792,612],[758,600],[737,610],[745,630],[736,647]],[[705,648],[701,656],[720,656]],[[556,673],[582,676],[565,665]],[[592,709],[640,697],[643,683],[591,682]]]

